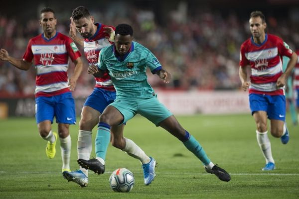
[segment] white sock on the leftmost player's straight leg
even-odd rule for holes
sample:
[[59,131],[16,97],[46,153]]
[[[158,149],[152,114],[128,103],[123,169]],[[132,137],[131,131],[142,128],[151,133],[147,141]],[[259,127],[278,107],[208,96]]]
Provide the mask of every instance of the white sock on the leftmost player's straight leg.
[[70,169],[70,157],[71,157],[71,136],[68,135],[66,138],[60,139],[60,149],[62,158],[62,169]]

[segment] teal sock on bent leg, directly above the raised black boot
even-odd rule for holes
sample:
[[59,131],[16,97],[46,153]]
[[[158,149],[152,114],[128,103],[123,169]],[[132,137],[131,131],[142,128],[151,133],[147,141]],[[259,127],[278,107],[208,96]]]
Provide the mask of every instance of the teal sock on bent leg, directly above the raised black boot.
[[108,124],[103,125],[101,122],[99,124],[96,137],[96,157],[100,157],[105,160],[109,142],[110,126]]

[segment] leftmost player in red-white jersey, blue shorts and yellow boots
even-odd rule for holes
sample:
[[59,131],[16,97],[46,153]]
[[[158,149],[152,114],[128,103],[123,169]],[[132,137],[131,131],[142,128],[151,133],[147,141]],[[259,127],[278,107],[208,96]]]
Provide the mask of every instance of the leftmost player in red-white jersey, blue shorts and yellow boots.
[[[43,33],[29,40],[22,60],[0,50],[0,59],[8,61],[20,70],[36,69],[35,118],[39,135],[48,141],[46,155],[55,156],[57,133],[52,132],[54,116],[58,123],[62,155],[62,172],[70,171],[71,137],[69,125],[76,123],[75,103],[71,91],[82,71],[81,53],[71,38],[56,31],[57,19],[54,10],[43,8],[40,11],[40,26]],[[75,70],[68,80],[68,59],[75,64]]]

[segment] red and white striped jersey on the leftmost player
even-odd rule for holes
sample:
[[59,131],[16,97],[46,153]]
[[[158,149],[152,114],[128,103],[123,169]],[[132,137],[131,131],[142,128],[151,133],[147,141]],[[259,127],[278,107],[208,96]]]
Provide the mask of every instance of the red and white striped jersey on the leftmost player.
[[69,92],[68,58],[72,61],[81,56],[71,38],[56,32],[51,39],[43,34],[29,40],[23,60],[32,62],[36,69],[35,97],[55,96]]

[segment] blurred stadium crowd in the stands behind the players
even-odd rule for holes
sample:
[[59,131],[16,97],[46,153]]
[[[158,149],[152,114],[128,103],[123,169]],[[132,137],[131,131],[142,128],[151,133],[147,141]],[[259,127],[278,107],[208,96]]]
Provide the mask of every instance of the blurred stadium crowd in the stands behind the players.
[[[172,74],[163,84],[149,74],[154,88],[169,90],[240,89],[240,45],[251,36],[249,15],[261,10],[267,32],[282,37],[293,50],[299,49],[299,0],[115,0],[101,2],[3,2],[0,8],[0,48],[22,58],[29,38],[41,33],[39,11],[49,6],[56,12],[57,30],[68,35],[71,12],[86,6],[95,21],[116,26],[129,23],[135,41],[148,47]],[[80,48],[82,54],[83,49]],[[95,85],[85,69],[76,94],[86,96]],[[71,63],[71,62],[70,62]],[[71,64],[69,74],[73,71]],[[32,95],[35,69],[21,71],[0,61],[0,96]]]

